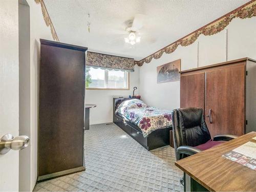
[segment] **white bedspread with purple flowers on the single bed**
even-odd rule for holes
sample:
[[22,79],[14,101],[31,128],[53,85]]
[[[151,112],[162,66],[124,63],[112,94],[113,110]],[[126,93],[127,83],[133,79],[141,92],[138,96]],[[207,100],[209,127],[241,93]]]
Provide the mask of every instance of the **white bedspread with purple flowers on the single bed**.
[[172,115],[170,111],[147,106],[139,99],[122,102],[118,106],[116,113],[125,116],[140,127],[144,137],[155,130],[172,126]]

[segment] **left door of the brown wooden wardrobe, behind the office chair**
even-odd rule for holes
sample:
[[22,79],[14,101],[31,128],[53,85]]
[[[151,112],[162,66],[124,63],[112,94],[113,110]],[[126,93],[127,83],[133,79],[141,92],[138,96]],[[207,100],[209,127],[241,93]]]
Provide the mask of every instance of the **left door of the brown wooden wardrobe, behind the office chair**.
[[205,73],[180,77],[180,107],[205,108]]

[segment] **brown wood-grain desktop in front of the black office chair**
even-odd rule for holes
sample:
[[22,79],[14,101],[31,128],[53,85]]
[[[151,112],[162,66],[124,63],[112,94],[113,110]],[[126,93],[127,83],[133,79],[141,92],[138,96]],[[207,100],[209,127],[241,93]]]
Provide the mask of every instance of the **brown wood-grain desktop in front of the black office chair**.
[[248,142],[256,132],[225,142],[209,150],[181,159],[175,165],[210,191],[256,191],[256,172],[222,157]]

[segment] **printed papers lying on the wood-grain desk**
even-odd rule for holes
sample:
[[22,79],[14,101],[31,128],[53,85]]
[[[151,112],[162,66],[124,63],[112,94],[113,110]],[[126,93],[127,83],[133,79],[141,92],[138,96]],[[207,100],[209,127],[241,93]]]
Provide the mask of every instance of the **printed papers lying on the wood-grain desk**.
[[256,143],[249,141],[222,157],[256,170]]

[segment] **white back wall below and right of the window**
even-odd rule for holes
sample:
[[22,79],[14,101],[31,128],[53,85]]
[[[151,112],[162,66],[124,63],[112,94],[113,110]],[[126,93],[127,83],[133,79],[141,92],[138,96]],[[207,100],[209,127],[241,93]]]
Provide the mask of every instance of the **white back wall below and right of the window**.
[[130,72],[130,90],[86,90],[86,103],[97,105],[90,109],[90,124],[112,122],[113,97],[133,95],[133,87],[138,87],[135,94],[139,94],[138,66],[135,66],[134,72]]

